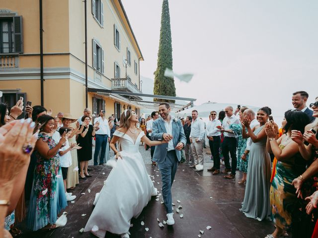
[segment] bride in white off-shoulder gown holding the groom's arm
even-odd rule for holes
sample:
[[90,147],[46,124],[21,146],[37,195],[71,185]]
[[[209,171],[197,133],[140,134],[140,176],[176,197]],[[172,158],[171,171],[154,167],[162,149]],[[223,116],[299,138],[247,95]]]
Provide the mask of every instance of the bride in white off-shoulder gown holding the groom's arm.
[[[166,142],[148,139],[141,129],[137,129],[137,122],[138,115],[132,110],[125,110],[110,141],[115,157],[107,165],[113,169],[99,195],[96,194],[95,208],[84,229],[84,232],[90,231],[98,238],[104,238],[106,231],[129,238],[130,220],[140,215],[151,196],[157,195],[138,147],[140,141],[150,146]],[[119,151],[115,147],[117,141]]]

